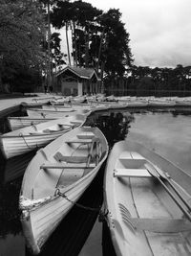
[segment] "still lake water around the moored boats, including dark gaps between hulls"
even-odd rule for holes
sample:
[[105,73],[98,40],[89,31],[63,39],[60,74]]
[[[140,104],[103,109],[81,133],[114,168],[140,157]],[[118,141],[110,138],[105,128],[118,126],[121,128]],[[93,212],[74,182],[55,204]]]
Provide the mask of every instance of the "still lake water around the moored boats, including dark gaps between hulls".
[[[23,112],[14,115],[18,114],[23,115]],[[86,125],[100,128],[110,149],[117,141],[130,136],[191,175],[191,110],[97,112],[88,118]],[[6,118],[0,120],[0,131],[8,131]],[[31,255],[22,236],[18,197],[22,176],[34,153],[16,156],[8,161],[0,155],[0,256]],[[97,221],[97,209],[103,199],[103,174],[104,166],[79,200],[81,205],[95,210],[74,206],[53,232],[40,255],[115,255],[107,226]]]

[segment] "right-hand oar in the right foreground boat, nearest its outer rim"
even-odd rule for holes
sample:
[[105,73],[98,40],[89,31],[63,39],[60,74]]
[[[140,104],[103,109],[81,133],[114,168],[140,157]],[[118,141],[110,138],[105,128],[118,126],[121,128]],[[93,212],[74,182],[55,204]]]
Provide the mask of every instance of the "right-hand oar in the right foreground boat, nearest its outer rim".
[[[179,190],[175,187],[175,185],[171,182],[171,176],[168,174],[168,173],[166,173],[166,172],[163,172],[163,171],[161,171],[159,168],[155,168],[156,169],[156,171],[158,172],[158,174],[161,176],[161,177],[163,177],[167,182],[168,182],[168,184],[171,186],[171,188],[175,191],[175,193],[178,195],[178,197],[182,200],[182,202],[186,205],[186,207],[189,209],[189,212],[191,212],[191,207],[190,207],[190,205],[187,203],[187,201],[184,199],[184,198],[182,198],[181,197],[181,195],[180,195],[180,192],[179,192]],[[189,197],[189,195],[183,190],[183,188],[181,188],[180,187],[180,185],[175,181],[175,180],[173,180],[172,179],[172,181],[177,185],[177,186],[179,186],[179,188],[181,189],[181,191],[184,193],[184,194],[186,194],[188,197]],[[190,197],[189,197],[190,198]]]

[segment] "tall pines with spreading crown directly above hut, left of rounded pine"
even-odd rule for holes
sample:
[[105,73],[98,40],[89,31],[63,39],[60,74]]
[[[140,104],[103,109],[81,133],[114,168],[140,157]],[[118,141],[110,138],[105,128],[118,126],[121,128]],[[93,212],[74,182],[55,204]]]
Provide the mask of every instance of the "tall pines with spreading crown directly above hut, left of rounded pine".
[[[53,7],[51,20],[53,27],[60,29],[65,27],[66,38],[68,28],[73,32],[73,57],[78,66],[92,66],[93,55],[90,53],[92,39],[97,33],[96,18],[102,13],[91,4],[75,1],[58,1]],[[69,42],[67,40],[67,49]],[[98,51],[97,51],[98,52]],[[68,56],[70,52],[68,50]]]

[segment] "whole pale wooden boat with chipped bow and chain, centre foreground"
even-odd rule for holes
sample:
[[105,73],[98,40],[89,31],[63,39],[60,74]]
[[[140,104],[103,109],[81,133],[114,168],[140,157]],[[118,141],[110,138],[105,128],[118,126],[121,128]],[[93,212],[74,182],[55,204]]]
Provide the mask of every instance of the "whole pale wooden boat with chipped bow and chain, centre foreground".
[[[72,181],[72,183],[66,184],[66,179],[69,178],[68,180],[71,182],[72,178],[71,176],[66,176],[67,169],[64,169],[65,172],[63,172],[63,169],[55,170],[55,167],[50,169],[47,167],[48,169],[46,170],[40,168],[44,163],[49,162],[49,159],[55,165],[60,164],[57,163],[53,157],[55,152],[66,152],[65,149],[69,149],[67,141],[74,138],[75,134],[80,134],[80,132],[92,132],[92,130],[93,133],[98,136],[102,150],[100,151],[100,161],[95,167],[92,167],[88,173],[84,173],[85,170],[81,170],[80,168],[76,170],[76,175],[79,175],[78,178],[76,179],[76,177],[74,177],[74,182]],[[69,150],[69,152],[66,153],[70,153],[72,156],[76,154],[74,157],[77,157],[78,153],[79,155],[89,153],[90,149],[88,147],[84,144],[81,146],[82,149],[79,149],[79,145],[74,149],[74,145],[72,145],[72,151]],[[107,154],[107,141],[101,131],[97,128],[82,127],[74,128],[67,134],[57,138],[43,150],[38,151],[33,157],[23,178],[19,207],[22,211],[21,222],[26,242],[34,254],[40,252],[43,244],[45,244],[53,233],[55,227],[68,214],[76,200],[81,197],[86,188],[91,184],[102,163],[105,161]],[[83,171],[83,174],[81,174],[80,170]],[[71,172],[72,170],[69,172],[69,175],[73,175]],[[63,180],[62,175],[65,175]],[[62,185],[58,186],[60,180]],[[61,193],[64,193],[64,197],[61,197],[57,193],[58,188]]]

